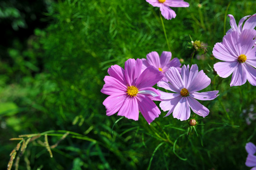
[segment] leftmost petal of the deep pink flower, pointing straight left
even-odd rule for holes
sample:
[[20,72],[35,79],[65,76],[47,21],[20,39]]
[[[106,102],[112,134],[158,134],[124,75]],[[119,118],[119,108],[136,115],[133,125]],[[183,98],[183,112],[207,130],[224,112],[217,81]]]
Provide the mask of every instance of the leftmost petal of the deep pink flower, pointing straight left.
[[105,84],[101,89],[101,93],[112,95],[112,94],[125,94],[126,93],[126,86],[122,84],[118,79],[105,76],[104,78]]

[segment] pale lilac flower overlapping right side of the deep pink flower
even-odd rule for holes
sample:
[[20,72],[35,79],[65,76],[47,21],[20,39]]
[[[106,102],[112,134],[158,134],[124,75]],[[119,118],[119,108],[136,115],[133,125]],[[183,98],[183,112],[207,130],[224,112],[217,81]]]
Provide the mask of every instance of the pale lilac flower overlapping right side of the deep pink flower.
[[209,114],[209,110],[195,99],[213,100],[218,96],[219,91],[197,92],[210,85],[210,78],[205,75],[203,70],[198,72],[196,64],[192,65],[190,69],[189,65],[187,67],[183,65],[181,74],[177,68],[171,67],[166,71],[165,76],[169,83],[160,81],[157,85],[175,92],[159,91],[163,100],[160,103],[161,109],[169,110],[165,117],[173,113],[174,118],[187,120],[190,117],[190,108],[202,117]]

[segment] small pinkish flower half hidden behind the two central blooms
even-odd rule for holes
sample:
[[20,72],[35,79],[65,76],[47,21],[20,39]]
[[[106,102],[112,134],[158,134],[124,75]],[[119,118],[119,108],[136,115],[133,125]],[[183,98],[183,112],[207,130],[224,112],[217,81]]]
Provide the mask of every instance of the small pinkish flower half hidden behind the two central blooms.
[[[178,58],[172,59],[172,53],[169,51],[163,51],[161,57],[157,52],[152,51],[146,55],[146,59],[142,59],[142,70],[145,70],[148,66],[154,66],[159,69],[163,75],[170,67],[176,67],[179,72],[181,72],[181,63]],[[164,81],[168,81],[165,76],[163,77]]]

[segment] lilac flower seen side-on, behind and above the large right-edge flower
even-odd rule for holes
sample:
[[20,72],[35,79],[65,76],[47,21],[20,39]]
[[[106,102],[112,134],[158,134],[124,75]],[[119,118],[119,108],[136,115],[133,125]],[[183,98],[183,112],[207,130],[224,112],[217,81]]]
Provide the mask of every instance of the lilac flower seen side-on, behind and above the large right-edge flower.
[[[256,14],[254,14],[252,16],[248,15],[248,16],[242,17],[240,19],[238,25],[236,23],[235,18],[231,14],[229,14],[228,16],[230,18],[229,23],[230,23],[231,28],[229,29],[229,31],[226,34],[229,34],[233,31],[238,31],[238,33],[241,34],[242,31],[245,29],[254,29],[256,27]],[[243,26],[243,23],[244,23],[244,26]]]

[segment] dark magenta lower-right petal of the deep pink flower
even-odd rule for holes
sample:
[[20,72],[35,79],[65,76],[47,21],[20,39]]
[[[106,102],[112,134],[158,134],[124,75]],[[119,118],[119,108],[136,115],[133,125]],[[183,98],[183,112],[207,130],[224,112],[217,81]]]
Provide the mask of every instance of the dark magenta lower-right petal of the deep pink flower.
[[137,101],[138,108],[148,124],[155,120],[155,118],[158,118],[161,114],[159,108],[147,96],[139,95],[139,97],[137,97]]

